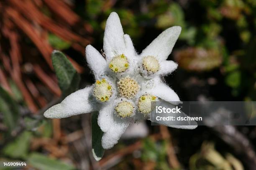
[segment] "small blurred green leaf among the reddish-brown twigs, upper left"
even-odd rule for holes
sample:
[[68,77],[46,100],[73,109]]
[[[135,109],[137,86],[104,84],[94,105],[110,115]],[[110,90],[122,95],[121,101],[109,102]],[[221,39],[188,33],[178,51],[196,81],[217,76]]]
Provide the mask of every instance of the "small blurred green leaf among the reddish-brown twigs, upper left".
[[49,44],[51,44],[52,47],[54,47],[58,50],[68,49],[71,45],[70,42],[64,41],[60,37],[58,37],[54,34],[51,34],[51,33],[48,36],[48,41],[49,41]]

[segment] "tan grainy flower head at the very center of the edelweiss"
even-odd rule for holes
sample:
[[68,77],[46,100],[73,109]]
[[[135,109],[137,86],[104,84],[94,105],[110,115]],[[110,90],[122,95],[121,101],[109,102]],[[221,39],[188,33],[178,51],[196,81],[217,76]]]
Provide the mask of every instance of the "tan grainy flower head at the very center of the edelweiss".
[[120,79],[117,84],[119,94],[127,99],[132,99],[140,88],[138,82],[129,76]]

